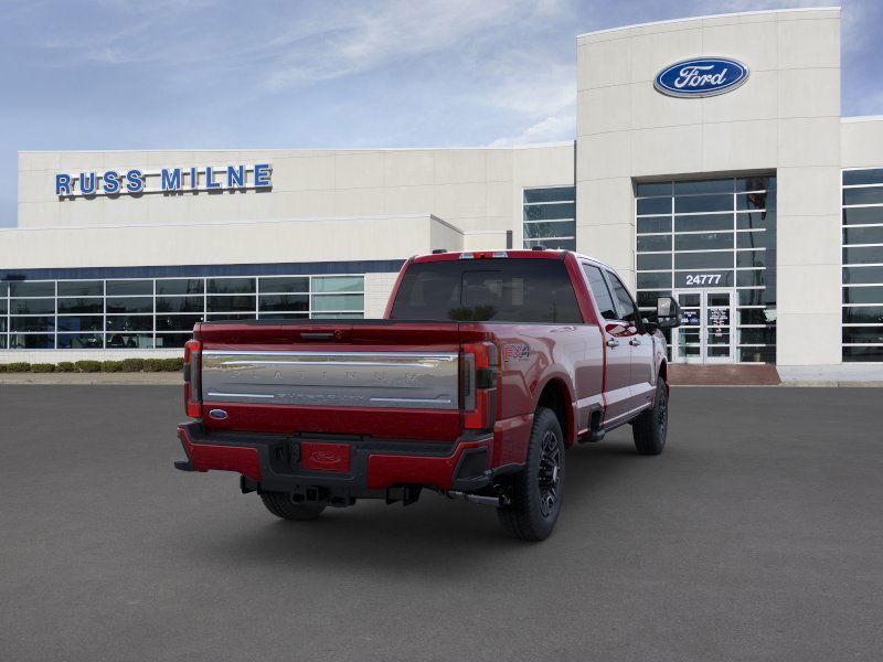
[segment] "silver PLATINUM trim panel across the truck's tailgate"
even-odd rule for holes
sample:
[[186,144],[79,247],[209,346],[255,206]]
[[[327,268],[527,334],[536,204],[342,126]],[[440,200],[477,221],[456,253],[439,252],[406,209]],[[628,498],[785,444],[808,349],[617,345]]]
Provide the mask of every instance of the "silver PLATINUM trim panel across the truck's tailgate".
[[206,401],[457,409],[458,375],[457,352],[202,352]]

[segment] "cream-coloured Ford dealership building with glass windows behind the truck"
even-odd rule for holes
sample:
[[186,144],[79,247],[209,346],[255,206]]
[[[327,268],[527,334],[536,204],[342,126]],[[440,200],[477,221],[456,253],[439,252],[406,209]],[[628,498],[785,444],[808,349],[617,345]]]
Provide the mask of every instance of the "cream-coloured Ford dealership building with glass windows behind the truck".
[[575,249],[671,359],[883,362],[883,117],[841,117],[840,10],[576,38],[574,140],[21,152],[0,362],[178,355],[194,322],[383,314],[433,249]]

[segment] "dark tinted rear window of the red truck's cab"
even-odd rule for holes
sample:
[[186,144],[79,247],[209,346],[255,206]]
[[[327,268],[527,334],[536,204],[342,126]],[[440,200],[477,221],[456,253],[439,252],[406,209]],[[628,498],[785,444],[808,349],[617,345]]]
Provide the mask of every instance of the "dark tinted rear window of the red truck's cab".
[[583,321],[563,261],[504,258],[412,264],[391,317],[547,324]]

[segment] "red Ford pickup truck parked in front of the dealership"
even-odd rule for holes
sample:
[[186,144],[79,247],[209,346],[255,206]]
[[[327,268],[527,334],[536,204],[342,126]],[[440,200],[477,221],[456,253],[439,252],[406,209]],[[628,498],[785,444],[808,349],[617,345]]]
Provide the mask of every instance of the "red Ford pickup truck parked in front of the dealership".
[[666,297],[650,317],[610,267],[534,249],[413,257],[380,320],[200,323],[175,467],[238,472],[287,520],[429,489],[543,540],[574,442],[631,424],[662,451],[680,316]]

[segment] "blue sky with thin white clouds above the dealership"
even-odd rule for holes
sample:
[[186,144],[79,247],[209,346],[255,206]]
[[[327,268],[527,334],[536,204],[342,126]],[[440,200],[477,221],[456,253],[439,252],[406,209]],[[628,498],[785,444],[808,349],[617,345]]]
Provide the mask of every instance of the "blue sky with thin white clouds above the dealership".
[[[832,0],[0,0],[19,150],[504,146],[576,135],[576,35]],[[883,0],[843,0],[842,114],[883,114]]]

